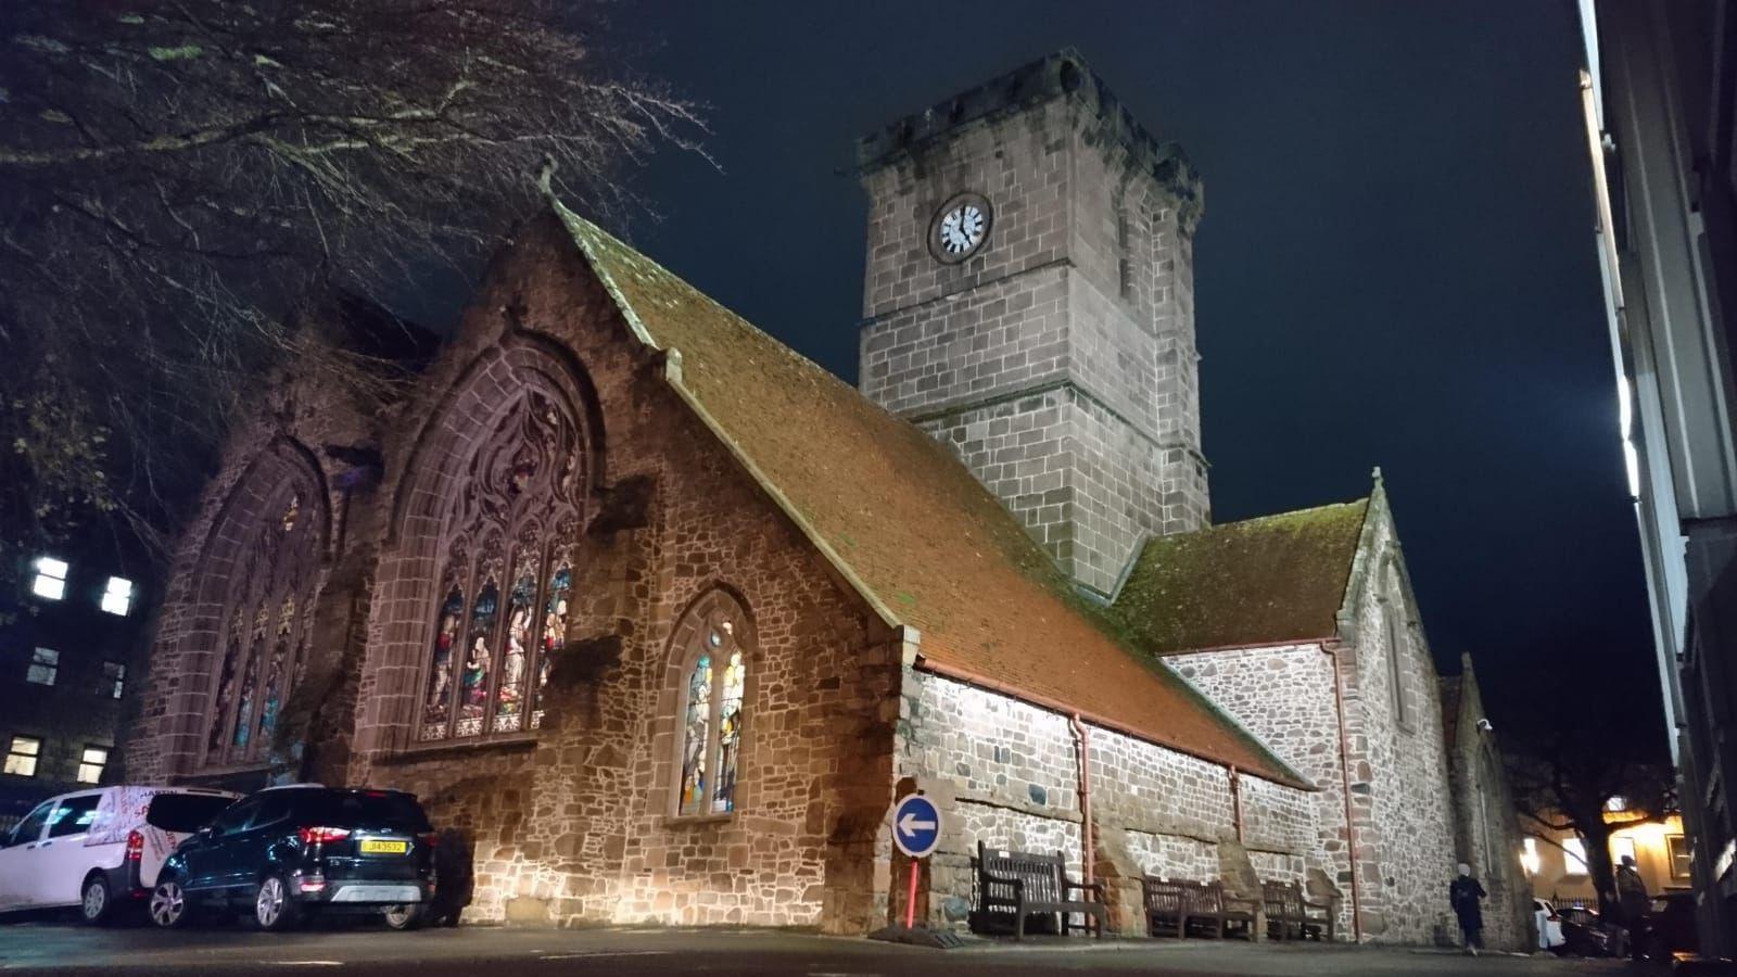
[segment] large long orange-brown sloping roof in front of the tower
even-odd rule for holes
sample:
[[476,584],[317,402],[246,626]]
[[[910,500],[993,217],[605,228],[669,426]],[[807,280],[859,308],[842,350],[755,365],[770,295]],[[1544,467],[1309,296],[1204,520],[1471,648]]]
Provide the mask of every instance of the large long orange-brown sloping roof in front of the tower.
[[966,468],[915,426],[556,205],[639,339],[761,487],[935,671],[1252,775],[1310,786],[1086,601]]

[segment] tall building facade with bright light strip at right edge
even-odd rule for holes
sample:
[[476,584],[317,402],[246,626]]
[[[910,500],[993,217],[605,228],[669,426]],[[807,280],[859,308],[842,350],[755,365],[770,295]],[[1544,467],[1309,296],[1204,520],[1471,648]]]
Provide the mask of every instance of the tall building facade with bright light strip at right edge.
[[1702,951],[1737,951],[1737,122],[1725,2],[1582,0],[1629,492]]

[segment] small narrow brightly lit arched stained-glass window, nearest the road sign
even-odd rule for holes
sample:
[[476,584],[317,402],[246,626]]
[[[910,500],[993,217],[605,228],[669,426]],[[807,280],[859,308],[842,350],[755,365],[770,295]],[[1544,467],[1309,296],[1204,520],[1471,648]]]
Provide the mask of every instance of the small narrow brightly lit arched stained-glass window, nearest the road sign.
[[745,628],[742,608],[721,591],[690,608],[676,628],[681,654],[677,815],[736,808],[749,666]]

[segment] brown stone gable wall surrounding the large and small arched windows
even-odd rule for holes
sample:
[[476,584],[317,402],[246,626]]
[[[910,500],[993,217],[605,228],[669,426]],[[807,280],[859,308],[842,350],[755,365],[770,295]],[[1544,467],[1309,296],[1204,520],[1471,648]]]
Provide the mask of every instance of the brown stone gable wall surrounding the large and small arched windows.
[[[441,824],[471,834],[467,918],[860,932],[877,904],[874,831],[891,800],[882,702],[893,697],[898,645],[870,633],[862,601],[632,348],[577,263],[551,224],[521,242],[431,370],[429,389],[469,384],[455,396],[472,396],[490,388],[464,377],[518,355],[488,360],[497,342],[554,341],[596,391],[606,431],[594,459],[606,473],[599,494],[629,508],[639,495],[643,511],[603,528],[592,522],[571,541],[568,652],[540,735],[403,746],[406,713],[391,704],[405,695],[403,676],[419,675],[406,657],[426,654],[429,624],[401,622],[377,601],[361,695],[373,708],[360,716],[363,753],[351,777],[413,789]],[[500,309],[514,311],[523,339]],[[433,436],[485,409],[457,403],[457,421]],[[412,433],[393,445],[396,457],[412,454]],[[401,464],[394,475],[408,476]],[[387,556],[406,544],[380,542]],[[405,563],[389,558],[382,567],[380,593],[433,605],[429,581],[403,577],[394,567]],[[752,628],[738,801],[731,815],[676,817],[684,648],[672,635],[717,588]]]

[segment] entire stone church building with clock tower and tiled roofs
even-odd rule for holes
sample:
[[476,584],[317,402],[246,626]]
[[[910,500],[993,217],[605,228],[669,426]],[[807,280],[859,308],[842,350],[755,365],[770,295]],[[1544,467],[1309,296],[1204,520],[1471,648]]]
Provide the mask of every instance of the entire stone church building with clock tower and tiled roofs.
[[[132,781],[417,793],[467,920],[903,911],[891,810],[973,859],[1304,883],[1450,928],[1438,678],[1379,473],[1212,525],[1202,183],[1072,52],[860,144],[860,389],[549,202],[436,348],[342,302],[241,417],[174,563]],[[396,336],[393,334],[400,330]]]

